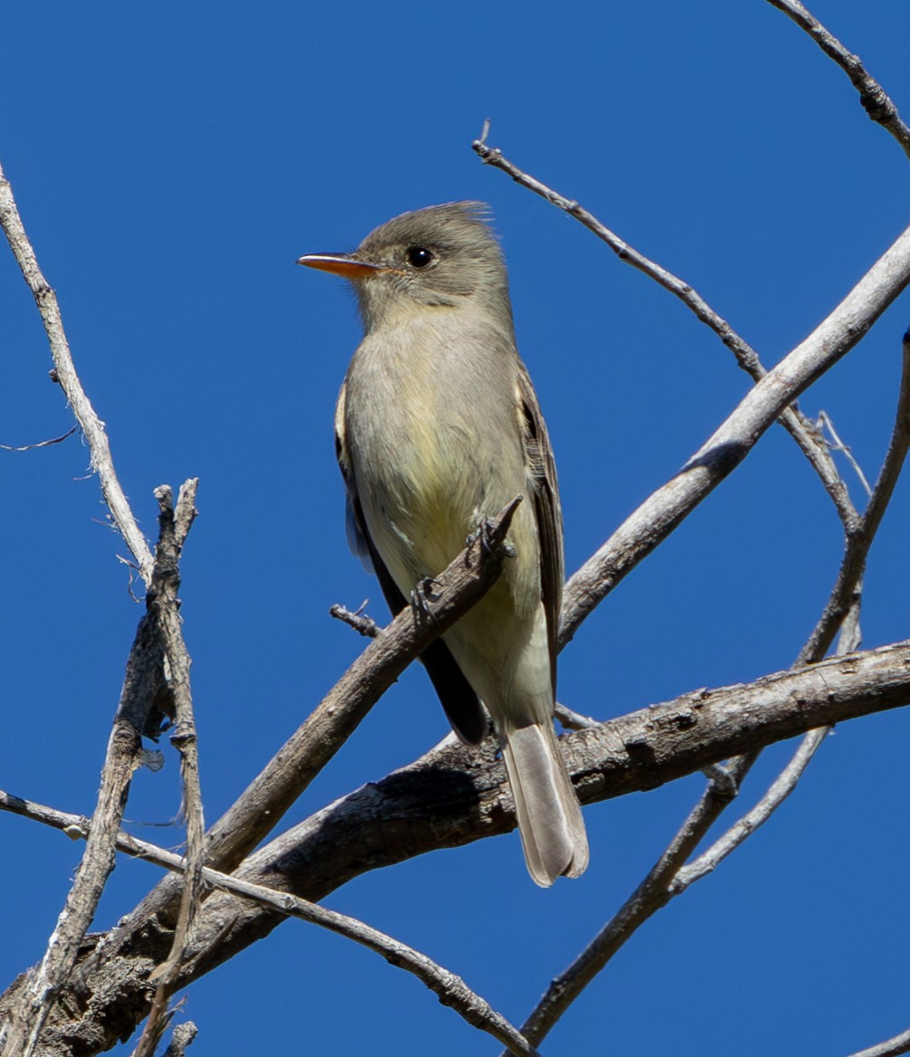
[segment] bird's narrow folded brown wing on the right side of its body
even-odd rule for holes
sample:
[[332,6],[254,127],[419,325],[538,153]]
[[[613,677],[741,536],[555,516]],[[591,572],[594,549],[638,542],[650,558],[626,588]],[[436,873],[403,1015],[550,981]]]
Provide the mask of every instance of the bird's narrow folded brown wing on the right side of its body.
[[521,361],[518,365],[517,388],[519,424],[540,539],[540,594],[546,614],[550,669],[555,694],[559,614],[562,608],[562,511],[559,506],[556,463],[546,425],[540,413],[531,376]]

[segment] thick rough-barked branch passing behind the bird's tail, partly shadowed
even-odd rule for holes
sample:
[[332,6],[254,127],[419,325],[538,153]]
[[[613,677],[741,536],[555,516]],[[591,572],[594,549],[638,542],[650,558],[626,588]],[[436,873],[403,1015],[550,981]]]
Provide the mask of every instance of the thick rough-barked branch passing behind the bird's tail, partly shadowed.
[[[910,701],[910,643],[824,661],[748,686],[702,690],[562,739],[584,802],[652,789],[731,756]],[[515,824],[491,744],[446,745],[329,805],[250,856],[242,880],[316,901],[352,877]],[[282,920],[233,896],[203,904],[180,983],[262,939]],[[90,954],[58,1006],[39,1053],[79,1040],[99,1052],[148,1010],[148,973],[166,957],[172,921],[132,916],[118,943]],[[15,999],[8,994],[4,1005]],[[73,1010],[77,1010],[73,1013]]]

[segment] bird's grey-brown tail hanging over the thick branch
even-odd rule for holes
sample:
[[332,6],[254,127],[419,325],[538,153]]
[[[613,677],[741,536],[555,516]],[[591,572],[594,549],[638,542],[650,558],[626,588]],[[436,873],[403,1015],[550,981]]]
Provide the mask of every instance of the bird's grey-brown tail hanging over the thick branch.
[[508,730],[502,756],[531,876],[544,888],[561,874],[579,876],[588,866],[588,836],[553,726]]

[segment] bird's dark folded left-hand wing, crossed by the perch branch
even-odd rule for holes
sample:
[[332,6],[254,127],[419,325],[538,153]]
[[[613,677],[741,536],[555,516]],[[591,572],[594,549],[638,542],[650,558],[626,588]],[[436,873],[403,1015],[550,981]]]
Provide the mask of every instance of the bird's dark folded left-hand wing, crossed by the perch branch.
[[[369,564],[370,571],[376,574],[389,609],[393,615],[397,615],[408,605],[408,600],[392,579],[392,574],[383,561],[367,528],[345,431],[345,395],[346,386],[342,385],[335,408],[335,455],[348,493],[346,519],[348,542],[351,550],[359,555],[364,564]],[[449,648],[442,638],[435,638],[424,650],[420,660],[430,676],[430,682],[454,733],[468,745],[480,744],[488,727],[486,713]]]

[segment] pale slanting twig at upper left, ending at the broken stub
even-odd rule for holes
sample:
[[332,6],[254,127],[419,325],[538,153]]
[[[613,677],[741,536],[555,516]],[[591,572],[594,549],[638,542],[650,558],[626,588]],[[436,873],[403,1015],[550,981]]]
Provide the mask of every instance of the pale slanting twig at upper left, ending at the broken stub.
[[32,291],[35,303],[38,305],[38,312],[41,314],[41,321],[51,346],[51,355],[54,358],[55,381],[62,388],[89,444],[89,450],[92,453],[92,467],[98,475],[105,502],[108,504],[114,524],[126,540],[127,546],[132,551],[140,574],[148,585],[152,574],[151,551],[136,524],[130,504],[114,471],[114,462],[105,432],[105,424],[95,413],[95,409],[76,374],[70,346],[63,331],[63,320],[60,317],[57,295],[41,274],[35,251],[25,235],[22,218],[16,207],[13,188],[4,177],[2,167],[0,167],[0,226],[3,227],[16,262]]

